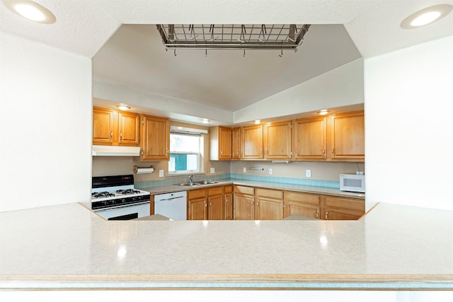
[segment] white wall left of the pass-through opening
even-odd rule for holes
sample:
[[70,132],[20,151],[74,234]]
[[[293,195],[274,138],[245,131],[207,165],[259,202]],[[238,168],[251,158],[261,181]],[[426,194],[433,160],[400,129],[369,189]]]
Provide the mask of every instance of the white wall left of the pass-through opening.
[[91,199],[91,59],[0,32],[0,211]]

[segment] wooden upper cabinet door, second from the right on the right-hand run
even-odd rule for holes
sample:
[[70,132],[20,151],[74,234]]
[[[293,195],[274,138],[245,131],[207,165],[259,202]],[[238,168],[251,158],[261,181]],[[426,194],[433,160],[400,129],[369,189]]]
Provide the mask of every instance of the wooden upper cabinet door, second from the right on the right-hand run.
[[292,126],[292,154],[295,160],[326,159],[326,117],[294,120]]

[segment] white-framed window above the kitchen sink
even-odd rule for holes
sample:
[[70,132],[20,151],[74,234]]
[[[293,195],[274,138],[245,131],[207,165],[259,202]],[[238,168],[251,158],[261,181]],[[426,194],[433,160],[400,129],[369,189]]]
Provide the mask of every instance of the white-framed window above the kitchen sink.
[[168,172],[200,172],[202,170],[200,150],[202,150],[202,134],[171,132]]

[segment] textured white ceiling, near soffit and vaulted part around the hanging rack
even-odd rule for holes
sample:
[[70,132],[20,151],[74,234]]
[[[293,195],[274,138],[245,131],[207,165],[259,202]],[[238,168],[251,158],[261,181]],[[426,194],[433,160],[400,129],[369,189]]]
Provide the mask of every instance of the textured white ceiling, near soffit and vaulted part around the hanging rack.
[[[36,2],[52,11],[57,22],[44,25],[26,21],[0,4],[0,30],[94,58],[95,79],[233,111],[355,57],[367,59],[453,35],[453,13],[422,28],[403,30],[399,26],[415,11],[436,4],[453,4],[453,0]],[[313,26],[299,52],[285,52],[282,58],[273,53],[256,57],[250,53],[242,57],[236,53],[214,52],[208,52],[207,57],[203,52],[181,52],[171,57],[164,53],[161,42],[156,45],[151,42],[156,39],[152,31],[147,35],[147,27],[159,23],[307,23]],[[339,25],[331,28],[338,30],[338,37],[324,39],[331,45],[320,44],[326,25]],[[144,40],[137,40],[139,37]],[[331,40],[336,38],[350,44],[339,46]],[[305,57],[304,52],[309,55]],[[150,68],[158,70],[161,76],[153,74],[155,71]]]

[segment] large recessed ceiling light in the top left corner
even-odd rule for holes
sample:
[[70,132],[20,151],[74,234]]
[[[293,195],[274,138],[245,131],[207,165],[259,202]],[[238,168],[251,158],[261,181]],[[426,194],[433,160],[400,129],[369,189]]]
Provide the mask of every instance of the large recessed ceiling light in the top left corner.
[[3,0],[13,13],[38,23],[54,23],[57,19],[47,8],[30,0]]

